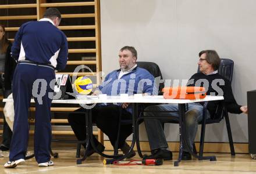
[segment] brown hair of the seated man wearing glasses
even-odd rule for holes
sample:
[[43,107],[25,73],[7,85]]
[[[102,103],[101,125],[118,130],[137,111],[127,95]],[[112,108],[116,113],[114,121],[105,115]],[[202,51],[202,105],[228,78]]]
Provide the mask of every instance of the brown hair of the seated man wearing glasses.
[[221,63],[221,59],[219,59],[218,53],[215,50],[202,50],[199,53],[199,57],[201,57],[201,55],[204,53],[206,55],[207,63],[211,64],[215,71],[218,70],[219,64]]

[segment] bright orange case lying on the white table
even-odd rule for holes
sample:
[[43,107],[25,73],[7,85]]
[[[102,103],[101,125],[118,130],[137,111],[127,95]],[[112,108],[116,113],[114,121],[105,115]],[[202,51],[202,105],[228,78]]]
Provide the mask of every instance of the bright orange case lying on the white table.
[[163,98],[165,99],[204,99],[206,91],[199,86],[179,86],[163,88]]

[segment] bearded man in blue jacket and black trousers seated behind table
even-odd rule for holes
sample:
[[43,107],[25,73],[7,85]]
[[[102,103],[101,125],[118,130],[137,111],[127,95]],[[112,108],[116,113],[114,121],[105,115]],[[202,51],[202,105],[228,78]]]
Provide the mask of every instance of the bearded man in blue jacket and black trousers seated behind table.
[[[99,93],[106,94],[108,96],[116,96],[122,93],[133,95],[136,93],[153,94],[154,77],[144,68],[137,67],[137,51],[132,46],[125,46],[119,51],[119,65],[120,69],[114,70],[106,75],[104,82],[93,95]],[[80,108],[79,110],[83,110]],[[98,128],[101,129],[108,137],[112,144],[115,146],[115,142],[118,134],[119,125],[119,112],[121,112],[122,119],[131,119],[131,107],[130,103],[118,103],[118,104],[97,104],[92,109],[92,119]],[[69,124],[71,125],[74,134],[78,140],[86,139],[86,124],[84,115],[72,113],[68,117]],[[132,127],[129,125],[121,125],[121,131],[119,136],[118,148],[123,153],[127,153],[129,145],[125,142],[126,138],[131,134]],[[99,143],[95,137],[94,142],[99,151],[104,151],[104,146]],[[83,144],[85,146],[85,144]],[[91,147],[90,147],[91,148]],[[95,151],[90,150],[88,156]],[[133,157],[135,152],[132,151],[128,157]]]

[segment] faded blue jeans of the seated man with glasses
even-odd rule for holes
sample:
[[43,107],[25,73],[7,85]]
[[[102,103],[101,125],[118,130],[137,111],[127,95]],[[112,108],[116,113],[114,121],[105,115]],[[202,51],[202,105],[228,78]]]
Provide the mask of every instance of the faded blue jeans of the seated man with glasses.
[[[193,149],[195,134],[197,133],[198,122],[202,120],[203,106],[200,103],[189,103],[188,110],[185,114],[186,138],[188,146]],[[179,121],[179,113],[155,113],[150,111],[178,111],[178,104],[160,104],[145,108],[144,115],[150,117],[159,117],[159,119],[145,119],[145,128],[147,130],[148,141],[151,150],[158,148],[168,148],[165,133],[163,132],[162,123],[172,120]],[[161,117],[172,116],[164,119]],[[206,119],[210,117],[207,110]],[[184,151],[188,151],[184,146]]]

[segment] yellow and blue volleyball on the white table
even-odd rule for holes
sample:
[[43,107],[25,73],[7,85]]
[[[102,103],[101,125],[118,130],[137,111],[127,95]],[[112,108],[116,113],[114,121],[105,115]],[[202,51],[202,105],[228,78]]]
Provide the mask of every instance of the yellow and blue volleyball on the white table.
[[79,77],[74,81],[74,88],[79,94],[88,95],[93,90],[93,82],[86,76]]

